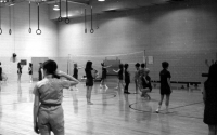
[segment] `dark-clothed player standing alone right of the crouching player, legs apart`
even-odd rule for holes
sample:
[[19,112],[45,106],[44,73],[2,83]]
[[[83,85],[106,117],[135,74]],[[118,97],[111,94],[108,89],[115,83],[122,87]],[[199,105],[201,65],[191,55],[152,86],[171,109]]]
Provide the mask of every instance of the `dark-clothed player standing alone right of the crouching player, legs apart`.
[[162,63],[163,70],[159,72],[159,79],[161,79],[161,100],[158,103],[158,108],[156,109],[156,112],[158,113],[162,102],[164,100],[164,96],[166,95],[166,112],[168,112],[168,106],[169,106],[169,96],[171,94],[171,85],[170,85],[170,72],[167,70],[169,67],[169,64],[167,62]]

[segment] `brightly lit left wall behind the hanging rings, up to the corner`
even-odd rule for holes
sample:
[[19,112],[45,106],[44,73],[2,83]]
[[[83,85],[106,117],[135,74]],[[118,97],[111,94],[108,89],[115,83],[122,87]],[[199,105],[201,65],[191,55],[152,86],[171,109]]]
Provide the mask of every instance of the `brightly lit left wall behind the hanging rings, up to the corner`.
[[[40,6],[40,29],[42,33],[36,35],[38,28],[38,12],[36,3],[31,3],[31,33],[29,28],[28,2],[22,2],[11,6],[11,29],[9,35],[10,15],[9,8],[1,8],[1,28],[0,35],[0,62],[3,72],[8,76],[8,81],[17,81],[17,62],[27,59],[27,65],[23,67],[22,82],[29,81],[28,64],[31,57],[56,56],[58,45],[58,26],[56,23],[49,19],[49,10],[47,4]],[[16,53],[16,62],[11,60],[12,53]],[[37,64],[38,67],[38,64]]]

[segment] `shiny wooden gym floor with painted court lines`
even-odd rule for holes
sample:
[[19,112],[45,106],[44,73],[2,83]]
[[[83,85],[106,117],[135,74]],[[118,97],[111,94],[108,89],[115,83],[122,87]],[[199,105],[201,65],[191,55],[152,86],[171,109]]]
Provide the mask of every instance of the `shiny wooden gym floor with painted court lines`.
[[[31,94],[35,83],[11,82],[2,84],[0,92],[0,134],[36,135],[33,130]],[[123,94],[108,83],[108,90],[100,90],[95,83],[92,103],[86,104],[86,87],[80,83],[78,91],[64,90],[63,108],[65,135],[206,135],[203,123],[202,94],[200,91],[175,90],[170,98],[169,113],[165,105],[155,113],[159,93],[154,89],[151,100],[139,94]],[[135,92],[135,84],[130,84]]]

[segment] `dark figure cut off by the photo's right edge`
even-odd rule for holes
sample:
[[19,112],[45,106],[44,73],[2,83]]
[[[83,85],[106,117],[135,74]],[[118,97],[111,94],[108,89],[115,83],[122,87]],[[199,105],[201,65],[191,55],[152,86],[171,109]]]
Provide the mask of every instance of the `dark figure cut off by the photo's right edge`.
[[209,67],[208,79],[204,83],[204,123],[208,124],[208,135],[217,135],[217,64]]

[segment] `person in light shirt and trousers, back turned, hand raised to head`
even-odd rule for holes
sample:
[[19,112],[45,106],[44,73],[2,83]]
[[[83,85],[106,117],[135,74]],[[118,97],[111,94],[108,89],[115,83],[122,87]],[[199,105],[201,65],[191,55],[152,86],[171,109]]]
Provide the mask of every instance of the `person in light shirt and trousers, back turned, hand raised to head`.
[[[36,83],[34,89],[34,131],[37,134],[64,135],[64,114],[62,108],[63,89],[79,83],[78,80],[63,71],[58,71],[54,60],[42,65],[44,78]],[[67,80],[58,79],[64,77]]]

